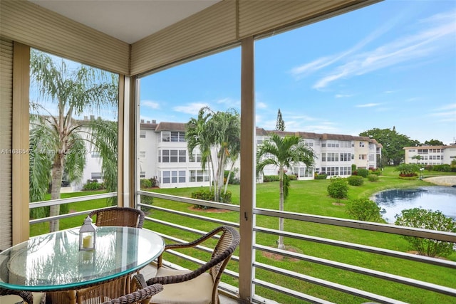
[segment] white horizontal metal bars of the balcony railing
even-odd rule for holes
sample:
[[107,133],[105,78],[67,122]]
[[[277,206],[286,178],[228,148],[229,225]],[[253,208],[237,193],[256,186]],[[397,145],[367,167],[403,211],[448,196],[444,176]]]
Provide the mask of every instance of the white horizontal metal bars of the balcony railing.
[[[115,194],[101,194],[100,196],[97,196],[97,198],[103,197],[108,197],[108,196],[113,196]],[[138,195],[140,196],[152,196],[157,199],[166,199],[169,201],[177,201],[180,203],[186,203],[186,204],[198,204],[202,206],[209,206],[212,208],[217,208],[217,209],[226,209],[229,211],[237,211],[239,212],[239,206],[237,205],[232,205],[232,204],[222,204],[222,203],[215,203],[212,201],[200,201],[196,199],[189,199],[189,198],[184,198],[180,196],[171,196],[167,194],[159,194],[159,193],[154,193],[154,192],[145,192],[145,191],[138,191]],[[31,204],[31,208],[36,207],[36,206],[49,206],[52,204],[63,204],[63,203],[68,203],[68,202],[75,202],[75,201],[81,201],[83,198],[85,199],[93,199],[93,196],[83,196],[83,197],[78,197],[76,199],[63,199],[63,200],[58,200],[58,201],[46,201],[46,202],[39,202],[39,203],[33,203]],[[155,206],[154,204],[148,205],[148,204],[139,204],[141,207],[147,207],[155,211],[164,211],[170,214],[175,214],[176,218],[180,216],[185,216],[185,218],[191,218],[191,219],[196,219],[198,221],[204,221],[204,222],[210,222],[213,224],[217,225],[229,225],[229,226],[234,226],[239,228],[239,223],[236,222],[231,222],[231,221],[224,221],[221,219],[214,219],[208,216],[202,216],[198,214],[190,214],[187,212],[183,211],[177,211],[172,208],[163,208],[160,206]],[[46,219],[39,219],[39,220],[32,220],[31,224],[36,223],[36,222],[42,222],[42,221],[50,221],[51,219],[63,219],[68,216],[76,216],[80,214],[87,214],[90,211],[81,211],[81,212],[76,212],[72,214],[65,214],[62,216],[55,216],[53,218],[46,218]],[[456,243],[456,234],[455,233],[450,233],[450,232],[445,232],[445,231],[432,231],[428,229],[415,229],[415,228],[410,228],[410,227],[404,227],[404,226],[395,226],[395,225],[390,225],[390,224],[379,224],[379,223],[371,223],[371,222],[364,222],[364,221],[354,221],[354,220],[349,220],[349,219],[338,219],[338,218],[332,218],[328,216],[316,216],[316,215],[311,215],[311,214],[299,214],[299,213],[294,213],[294,212],[280,212],[277,210],[271,210],[271,209],[261,209],[261,208],[255,208],[254,209],[254,214],[257,216],[272,216],[272,217],[283,217],[284,219],[292,220],[292,221],[299,221],[302,223],[306,222],[311,222],[311,223],[316,223],[320,225],[330,225],[330,226],[340,226],[340,227],[346,227],[347,229],[363,229],[367,231],[374,231],[376,233],[387,233],[387,234],[396,234],[400,236],[417,236],[417,237],[422,237],[426,239],[435,239],[439,241],[448,241],[452,243]],[[204,234],[207,231],[199,231],[195,229],[194,227],[189,227],[186,226],[185,224],[182,224],[182,221],[180,223],[177,222],[169,222],[169,221],[162,221],[161,219],[157,219],[152,216],[146,216],[146,222],[152,222],[155,224],[160,224],[160,225],[165,225],[169,227],[173,227],[175,229],[178,229],[179,231],[187,231],[187,232],[192,232],[195,234]],[[159,225],[157,225],[159,226]],[[160,229],[156,230],[157,233],[159,233],[163,238],[165,238],[168,241],[171,242],[181,242],[182,240],[178,239],[176,236],[171,236],[162,233]],[[398,258],[399,262],[400,261],[414,261],[417,263],[425,263],[429,264],[432,266],[440,266],[442,268],[445,268],[446,271],[456,271],[456,263],[453,261],[448,261],[444,259],[439,259],[439,258],[430,258],[426,256],[419,256],[411,253],[404,253],[400,251],[393,251],[390,249],[385,249],[385,248],[378,248],[375,246],[366,246],[362,244],[357,244],[357,243],[350,243],[346,241],[337,241],[333,239],[328,239],[328,238],[321,238],[321,237],[316,237],[316,236],[309,236],[306,234],[302,233],[296,233],[296,232],[290,232],[290,231],[279,231],[275,229],[269,229],[266,227],[261,227],[261,226],[254,226],[253,231],[240,231],[241,232],[241,238],[243,234],[246,233],[254,233],[254,234],[269,234],[269,235],[274,235],[274,236],[284,236],[289,239],[294,239],[302,242],[314,242],[314,243],[321,243],[325,244],[328,246],[334,246],[338,248],[346,248],[347,250],[354,250],[354,251],[360,251],[360,252],[365,252],[365,253],[373,253],[378,256],[387,256],[387,257],[393,257],[393,258]],[[254,238],[255,239],[255,238]],[[199,248],[202,251],[209,251],[209,248],[204,248],[200,247]],[[311,255],[306,255],[303,253],[296,253],[296,252],[291,252],[291,251],[286,251],[286,250],[280,250],[277,248],[272,248],[270,246],[265,246],[264,244],[261,243],[254,243],[254,246],[252,248],[252,251],[261,251],[264,253],[271,253],[279,256],[284,256],[287,258],[293,258],[299,261],[306,261],[309,263],[313,264],[318,264],[322,266],[327,266],[331,268],[337,268],[341,271],[344,272],[349,272],[349,273],[357,273],[361,274],[363,276],[370,276],[373,278],[378,278],[383,281],[390,281],[398,285],[408,285],[408,286],[413,286],[414,288],[419,288],[422,290],[429,290],[430,292],[433,293],[440,293],[445,296],[449,296],[452,298],[456,298],[456,289],[455,285],[438,285],[432,282],[427,282],[425,281],[426,278],[422,278],[420,280],[413,279],[413,278],[407,278],[405,276],[398,276],[394,273],[387,273],[383,271],[377,271],[374,269],[370,268],[364,268],[360,266],[355,266],[351,265],[348,263],[341,263],[338,261],[331,261],[326,258],[320,258],[317,256],[311,256]],[[348,251],[347,251],[348,252]],[[182,253],[177,253],[174,252],[176,256],[179,256],[180,258],[185,258],[188,261],[192,261],[195,263],[204,263],[203,261],[199,261],[197,258],[194,258],[192,256],[187,256]],[[350,253],[347,253],[350,254]],[[255,255],[254,255],[255,256]],[[232,263],[237,263],[239,261],[238,256],[233,256],[232,257]],[[176,267],[179,268],[179,266],[172,264],[170,262],[167,263],[167,266],[170,267]],[[375,293],[371,293],[366,290],[361,290],[358,288],[353,288],[352,286],[348,285],[343,285],[340,283],[335,283],[327,280],[323,280],[321,278],[316,278],[313,276],[307,275],[303,271],[298,271],[296,269],[293,270],[287,270],[281,267],[277,267],[272,265],[271,263],[261,263],[259,261],[254,261],[252,267],[257,270],[261,271],[266,271],[274,274],[279,274],[281,276],[284,276],[286,278],[291,278],[293,280],[299,281],[301,283],[311,283],[315,284],[318,286],[323,286],[325,288],[330,288],[331,290],[337,290],[342,293],[347,293],[349,295],[355,295],[357,297],[361,297],[366,299],[366,301],[371,300],[375,301],[376,303],[403,303],[398,299],[395,298],[390,298],[390,295],[379,295]],[[236,271],[230,271],[227,270],[225,271],[227,276],[231,276],[234,278],[239,278],[239,273]],[[254,272],[255,273],[255,272]],[[267,276],[262,276],[261,278],[258,278],[257,276],[254,276],[252,278],[251,282],[254,286],[261,286],[261,288],[266,288],[269,290],[274,290],[276,293],[282,293],[284,295],[288,295],[290,297],[295,298],[298,301],[306,301],[310,303],[331,303],[328,302],[328,300],[321,299],[321,298],[316,298],[312,295],[308,295],[306,293],[303,293],[301,290],[294,290],[292,288],[280,286],[277,284],[277,282],[273,281],[268,281]],[[455,277],[456,278],[456,277]],[[222,277],[223,279],[223,277]],[[336,281],[336,278],[334,278]],[[454,282],[453,282],[454,283]],[[237,296],[237,287],[228,285],[227,283],[221,283],[220,288],[222,293],[228,293],[232,297]],[[252,298],[249,299],[251,303],[274,303],[274,300],[269,300],[264,298],[264,296],[261,295],[252,295]]]

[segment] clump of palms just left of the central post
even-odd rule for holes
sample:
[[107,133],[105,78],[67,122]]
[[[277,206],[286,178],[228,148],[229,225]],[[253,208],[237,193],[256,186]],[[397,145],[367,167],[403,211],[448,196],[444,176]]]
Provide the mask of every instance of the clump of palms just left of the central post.
[[199,148],[201,167],[205,170],[208,165],[212,174],[214,201],[220,201],[227,165],[231,162],[231,171],[239,156],[240,135],[241,121],[239,114],[233,109],[214,112],[205,107],[199,110],[197,118],[192,117],[187,123],[185,139],[189,154]]

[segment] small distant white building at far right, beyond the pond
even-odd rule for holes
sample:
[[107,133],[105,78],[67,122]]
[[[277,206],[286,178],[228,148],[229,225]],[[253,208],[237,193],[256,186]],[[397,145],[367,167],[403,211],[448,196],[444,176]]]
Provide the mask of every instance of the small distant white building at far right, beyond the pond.
[[456,159],[456,145],[404,147],[405,164],[451,164]]

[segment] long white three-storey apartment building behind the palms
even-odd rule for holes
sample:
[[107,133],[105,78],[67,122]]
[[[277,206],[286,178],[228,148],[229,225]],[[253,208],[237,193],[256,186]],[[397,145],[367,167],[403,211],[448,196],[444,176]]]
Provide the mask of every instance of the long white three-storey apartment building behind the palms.
[[[257,127],[257,145],[261,145],[272,132],[304,138],[306,145],[314,150],[316,159],[313,168],[307,168],[304,164],[287,168],[286,173],[296,175],[299,180],[314,179],[315,173],[328,174],[328,177],[348,177],[352,173],[352,164],[358,168],[376,168],[380,159],[382,146],[369,137],[361,136],[285,132]],[[209,185],[209,168],[202,170],[199,151],[188,154],[185,123],[141,120],[137,153],[140,179],[155,178],[161,188]],[[84,182],[87,179],[103,179],[99,163],[98,154],[88,154]],[[234,168],[239,167],[238,160]],[[277,172],[278,168],[274,166],[264,169],[264,175]]]

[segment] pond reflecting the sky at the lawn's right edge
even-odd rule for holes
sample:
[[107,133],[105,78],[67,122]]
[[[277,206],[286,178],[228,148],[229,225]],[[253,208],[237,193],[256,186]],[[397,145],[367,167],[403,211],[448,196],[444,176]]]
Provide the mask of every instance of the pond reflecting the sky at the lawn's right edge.
[[372,198],[381,209],[383,219],[393,224],[403,209],[421,208],[441,211],[456,219],[456,187],[420,187],[378,192]]

